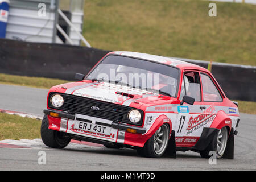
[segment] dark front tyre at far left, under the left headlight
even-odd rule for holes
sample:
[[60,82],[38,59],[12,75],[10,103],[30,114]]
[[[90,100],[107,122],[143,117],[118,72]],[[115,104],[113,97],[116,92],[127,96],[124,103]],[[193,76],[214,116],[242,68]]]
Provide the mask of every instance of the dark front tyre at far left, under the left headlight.
[[41,124],[41,138],[43,143],[52,148],[64,148],[71,140],[69,137],[65,137],[63,132],[48,129],[49,122],[47,115],[45,114]]

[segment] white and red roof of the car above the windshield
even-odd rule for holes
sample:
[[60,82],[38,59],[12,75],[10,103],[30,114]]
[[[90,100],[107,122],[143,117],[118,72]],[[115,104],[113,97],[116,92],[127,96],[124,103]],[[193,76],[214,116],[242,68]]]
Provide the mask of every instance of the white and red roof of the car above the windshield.
[[151,60],[162,64],[171,65],[173,67],[177,67],[180,69],[199,69],[201,71],[208,72],[207,69],[200,67],[199,65],[188,63],[185,61],[172,59],[171,57],[164,57],[164,56],[157,56],[157,55],[151,55],[148,53],[140,53],[140,52],[130,52],[130,51],[113,51],[109,54],[114,55],[122,55],[122,56],[129,56],[129,57],[135,57],[138,59],[145,59],[145,60]]

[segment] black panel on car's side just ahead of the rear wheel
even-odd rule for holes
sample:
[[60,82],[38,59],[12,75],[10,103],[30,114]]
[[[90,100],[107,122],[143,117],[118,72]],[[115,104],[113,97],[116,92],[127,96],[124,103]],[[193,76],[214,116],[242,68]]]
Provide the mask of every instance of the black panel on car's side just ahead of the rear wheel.
[[[196,142],[193,148],[195,148],[197,151],[205,150],[205,148],[209,146],[210,142],[217,139],[217,134],[219,131],[219,129],[204,127],[200,139]],[[217,142],[217,140],[215,142]]]

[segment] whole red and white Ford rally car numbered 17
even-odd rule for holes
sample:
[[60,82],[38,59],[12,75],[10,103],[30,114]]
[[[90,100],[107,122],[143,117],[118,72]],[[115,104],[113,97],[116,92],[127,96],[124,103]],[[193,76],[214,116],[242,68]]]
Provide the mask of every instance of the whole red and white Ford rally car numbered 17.
[[64,148],[75,139],[154,158],[187,150],[233,158],[238,104],[207,69],[119,51],[75,78],[49,90],[41,127],[47,146]]

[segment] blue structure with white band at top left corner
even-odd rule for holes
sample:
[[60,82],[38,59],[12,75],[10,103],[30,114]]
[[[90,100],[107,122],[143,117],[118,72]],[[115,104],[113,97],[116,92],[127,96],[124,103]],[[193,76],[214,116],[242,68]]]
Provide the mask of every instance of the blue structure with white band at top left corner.
[[0,0],[0,38],[5,38],[9,14],[9,0]]

